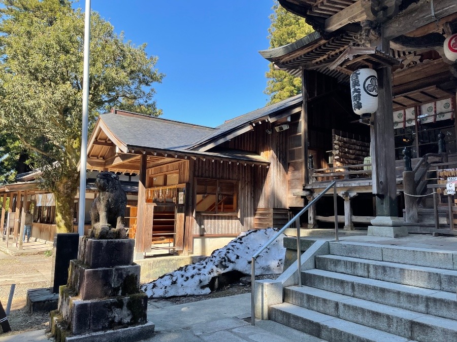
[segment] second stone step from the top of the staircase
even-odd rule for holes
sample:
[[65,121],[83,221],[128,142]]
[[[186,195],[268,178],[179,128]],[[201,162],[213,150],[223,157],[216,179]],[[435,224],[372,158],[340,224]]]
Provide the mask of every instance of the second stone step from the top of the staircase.
[[315,260],[316,269],[325,271],[448,292],[457,287],[457,271],[340,255],[320,255]]

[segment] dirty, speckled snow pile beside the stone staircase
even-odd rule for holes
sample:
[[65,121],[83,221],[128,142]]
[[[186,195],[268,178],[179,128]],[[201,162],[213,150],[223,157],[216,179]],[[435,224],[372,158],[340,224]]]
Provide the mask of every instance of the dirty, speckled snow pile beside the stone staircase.
[[[273,228],[252,230],[241,233],[226,246],[216,249],[204,260],[186,265],[176,271],[144,284],[141,289],[149,298],[165,298],[211,292],[210,281],[223,273],[239,271],[251,274],[251,257],[277,230]],[[255,262],[255,275],[282,273],[285,248],[284,234],[281,234]]]

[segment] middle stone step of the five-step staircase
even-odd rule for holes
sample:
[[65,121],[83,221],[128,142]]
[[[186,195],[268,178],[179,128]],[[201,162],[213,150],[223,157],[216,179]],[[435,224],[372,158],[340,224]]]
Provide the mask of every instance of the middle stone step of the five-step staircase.
[[302,283],[336,294],[370,300],[422,314],[455,319],[457,312],[455,292],[438,291],[316,269],[303,271]]

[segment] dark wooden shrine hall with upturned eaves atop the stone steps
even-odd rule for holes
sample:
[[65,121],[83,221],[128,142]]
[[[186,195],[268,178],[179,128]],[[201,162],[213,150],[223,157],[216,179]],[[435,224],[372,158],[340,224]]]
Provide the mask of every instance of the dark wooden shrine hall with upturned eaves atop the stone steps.
[[[310,157],[303,163],[301,195],[311,199],[330,180],[338,179],[337,192],[344,199],[340,221],[347,229],[353,226],[353,211],[370,218],[367,199],[373,199],[371,218],[383,221],[379,225],[398,224],[394,221],[403,216],[408,196],[430,194],[441,186],[434,185],[442,181],[440,174],[455,172],[457,63],[446,58],[444,41],[457,33],[457,2],[279,3],[304,17],[315,30],[295,43],[260,51],[276,68],[303,81],[302,148]],[[355,115],[351,108],[350,75],[360,68],[377,72],[378,107],[367,118]],[[343,119],[347,116],[349,120]],[[404,191],[402,174],[405,147],[414,172],[410,191]],[[365,204],[351,205],[361,196]],[[416,211],[412,222],[407,222],[411,231],[420,231],[418,211],[433,217],[430,199],[415,198],[412,207],[407,205],[406,216]],[[322,206],[320,210],[325,211]],[[325,220],[324,214],[319,215],[317,205],[310,212],[311,226]],[[371,224],[376,226],[375,222]]]

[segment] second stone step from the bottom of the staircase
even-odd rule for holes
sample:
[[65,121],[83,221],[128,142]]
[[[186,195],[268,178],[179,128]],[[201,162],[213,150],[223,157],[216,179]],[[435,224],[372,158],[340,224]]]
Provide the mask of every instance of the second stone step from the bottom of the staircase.
[[287,287],[284,289],[284,301],[408,339],[448,341],[457,338],[457,321],[455,320],[387,306],[313,287]]

